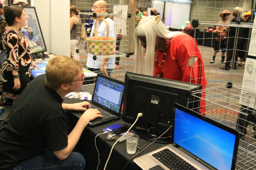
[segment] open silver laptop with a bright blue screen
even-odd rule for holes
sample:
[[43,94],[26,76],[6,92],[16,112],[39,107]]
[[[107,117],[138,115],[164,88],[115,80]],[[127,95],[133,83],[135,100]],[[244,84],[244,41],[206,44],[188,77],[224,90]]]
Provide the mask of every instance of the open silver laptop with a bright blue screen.
[[222,123],[174,104],[173,144],[134,162],[144,170],[234,170],[239,132]]

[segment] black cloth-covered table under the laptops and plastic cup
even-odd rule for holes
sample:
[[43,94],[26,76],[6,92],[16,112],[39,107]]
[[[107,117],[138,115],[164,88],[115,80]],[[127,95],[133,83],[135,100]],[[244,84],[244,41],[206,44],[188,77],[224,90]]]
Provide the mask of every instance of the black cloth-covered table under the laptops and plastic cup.
[[[65,98],[63,103],[78,103],[82,102],[79,99],[70,99]],[[75,127],[78,117],[76,116],[75,111],[68,111],[66,112],[67,117],[67,127],[68,127],[68,134],[72,131],[72,129]],[[139,118],[140,119],[140,118]],[[93,170],[94,163],[96,162],[98,158],[98,152],[95,148],[94,144],[94,138],[97,134],[103,133],[103,129],[106,127],[109,127],[113,124],[119,124],[119,125],[128,125],[131,126],[131,124],[124,122],[123,120],[117,120],[111,123],[107,123],[104,125],[100,125],[97,127],[86,127],[83,131],[75,149],[73,151],[79,152],[83,154],[85,161],[86,161],[86,170]],[[108,139],[105,140],[107,134],[99,135],[96,138],[96,144],[100,155],[100,165],[99,170],[103,170],[105,163],[108,159],[111,147],[115,143],[115,140],[109,141]],[[105,141],[104,141],[105,140]],[[138,144],[140,146],[144,146],[146,143],[146,140],[139,138]],[[163,147],[164,144],[158,144],[154,143],[150,147],[148,147],[144,152],[139,154],[137,157],[144,155],[146,153],[149,153],[155,149],[159,149]],[[136,152],[138,149],[136,150]],[[126,141],[118,142],[111,154],[110,160],[108,162],[107,168],[108,170],[122,170],[127,161],[134,156],[134,154],[128,154],[126,151]],[[94,169],[96,169],[98,165],[98,162],[95,164]],[[127,170],[140,170],[140,167],[137,166],[133,161],[129,163],[129,165],[126,167]]]

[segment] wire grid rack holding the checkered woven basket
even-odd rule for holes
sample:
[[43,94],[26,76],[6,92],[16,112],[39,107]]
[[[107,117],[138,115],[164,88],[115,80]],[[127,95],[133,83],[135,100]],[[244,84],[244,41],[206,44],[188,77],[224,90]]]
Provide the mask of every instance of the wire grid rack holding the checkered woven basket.
[[[95,36],[94,23],[97,18],[105,18],[108,21],[109,37],[116,38],[115,54],[96,55],[87,52],[86,40],[81,40],[77,45],[79,62],[83,68],[93,71],[85,78],[83,90],[85,92],[94,91],[95,79],[97,74],[107,73],[109,77],[124,81],[125,73],[128,71],[128,34],[129,34],[129,17],[130,17],[130,1],[129,0],[109,0],[107,6],[95,3],[95,0],[77,0],[75,5],[80,12],[78,16],[81,22],[85,23],[86,37]],[[105,12],[100,12],[99,9],[105,7]],[[101,21],[97,24],[97,36],[106,36],[106,26]],[[82,39],[80,33],[83,26],[77,24],[77,37]],[[107,46],[107,45],[106,45]],[[107,49],[105,44],[103,49]],[[93,58],[94,57],[94,58]],[[96,60],[94,60],[96,59]],[[104,64],[106,64],[104,66]]]

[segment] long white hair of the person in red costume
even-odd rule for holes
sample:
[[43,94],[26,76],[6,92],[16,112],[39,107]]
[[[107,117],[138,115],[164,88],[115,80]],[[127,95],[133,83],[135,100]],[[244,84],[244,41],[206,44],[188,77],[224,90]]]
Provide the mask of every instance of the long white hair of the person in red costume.
[[142,16],[135,29],[135,73],[142,74],[144,48],[141,46],[141,41],[138,36],[146,37],[146,57],[144,74],[153,76],[154,61],[155,61],[155,46],[156,38],[161,37],[170,39],[174,36],[184,34],[182,32],[170,32],[165,28],[165,25],[158,16]]

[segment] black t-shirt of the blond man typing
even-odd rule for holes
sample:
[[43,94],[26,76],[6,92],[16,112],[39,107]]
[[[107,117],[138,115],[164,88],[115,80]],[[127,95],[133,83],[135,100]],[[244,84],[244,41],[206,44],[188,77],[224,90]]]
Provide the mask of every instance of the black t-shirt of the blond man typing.
[[0,125],[0,169],[10,170],[48,148],[67,147],[62,98],[44,85],[45,74],[31,81]]

